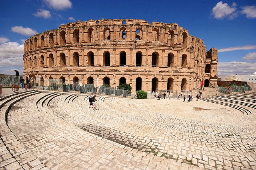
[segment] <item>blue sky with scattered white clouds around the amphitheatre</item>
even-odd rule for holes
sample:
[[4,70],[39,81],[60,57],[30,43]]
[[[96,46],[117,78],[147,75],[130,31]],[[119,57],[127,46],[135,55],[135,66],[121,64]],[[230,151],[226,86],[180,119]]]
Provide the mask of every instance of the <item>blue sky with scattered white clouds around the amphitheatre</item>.
[[255,0],[0,0],[0,6],[0,74],[22,72],[24,39],[62,23],[102,18],[178,23],[207,49],[220,50],[219,74],[256,71]]

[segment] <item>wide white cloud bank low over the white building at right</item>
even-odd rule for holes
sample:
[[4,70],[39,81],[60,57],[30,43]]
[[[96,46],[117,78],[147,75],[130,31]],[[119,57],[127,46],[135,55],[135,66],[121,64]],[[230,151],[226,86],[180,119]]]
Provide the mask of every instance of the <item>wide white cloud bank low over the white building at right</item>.
[[256,63],[248,62],[219,62],[218,75],[223,74],[252,74],[256,70]]

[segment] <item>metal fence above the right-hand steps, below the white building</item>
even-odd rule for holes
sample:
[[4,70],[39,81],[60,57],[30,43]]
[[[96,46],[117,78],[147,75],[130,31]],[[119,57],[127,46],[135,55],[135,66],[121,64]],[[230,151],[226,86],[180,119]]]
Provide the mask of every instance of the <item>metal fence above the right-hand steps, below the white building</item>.
[[218,87],[220,93],[230,94],[231,92],[244,93],[245,91],[256,91],[255,84],[246,84],[244,86],[228,86],[228,87]]

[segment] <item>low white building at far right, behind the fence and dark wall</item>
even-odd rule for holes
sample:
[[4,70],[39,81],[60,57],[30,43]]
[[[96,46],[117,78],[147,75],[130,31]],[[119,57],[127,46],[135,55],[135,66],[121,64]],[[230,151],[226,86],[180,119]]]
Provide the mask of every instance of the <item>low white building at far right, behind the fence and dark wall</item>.
[[256,83],[256,72],[254,72],[252,75],[246,75],[246,74],[222,75],[222,76],[218,77],[218,80],[242,81],[242,82]]

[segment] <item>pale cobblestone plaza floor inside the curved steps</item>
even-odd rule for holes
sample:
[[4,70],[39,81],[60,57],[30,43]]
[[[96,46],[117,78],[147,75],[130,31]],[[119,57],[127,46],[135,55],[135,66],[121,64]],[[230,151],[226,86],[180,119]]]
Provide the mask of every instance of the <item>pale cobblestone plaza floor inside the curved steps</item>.
[[256,169],[252,107],[96,98],[92,110],[85,96],[36,94],[12,106],[8,125],[50,169]]

